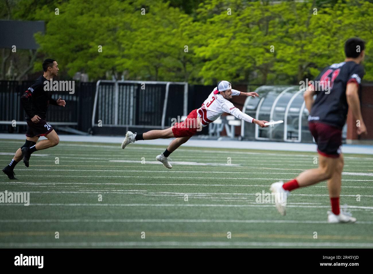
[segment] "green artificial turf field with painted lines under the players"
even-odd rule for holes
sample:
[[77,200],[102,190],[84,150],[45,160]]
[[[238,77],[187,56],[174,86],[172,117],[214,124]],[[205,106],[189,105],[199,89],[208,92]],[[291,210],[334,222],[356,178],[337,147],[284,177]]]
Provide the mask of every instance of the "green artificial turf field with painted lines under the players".
[[[1,168],[23,143],[0,140]],[[317,153],[180,147],[168,170],[155,160],[164,149],[60,142],[35,152],[18,180],[1,173],[0,192],[29,192],[30,205],[0,204],[0,248],[373,247],[373,155],[344,155],[341,205],[357,223],[328,224],[326,182],[293,191],[286,216],[256,202],[315,168]]]

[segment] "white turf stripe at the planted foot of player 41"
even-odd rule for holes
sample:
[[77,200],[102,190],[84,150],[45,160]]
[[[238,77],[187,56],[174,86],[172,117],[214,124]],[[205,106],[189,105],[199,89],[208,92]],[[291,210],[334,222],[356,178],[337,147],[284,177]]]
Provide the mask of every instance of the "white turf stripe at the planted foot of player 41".
[[[219,220],[219,219],[5,219],[0,223],[280,223],[280,224],[329,224],[313,220]],[[357,221],[355,224],[373,224],[372,221]]]

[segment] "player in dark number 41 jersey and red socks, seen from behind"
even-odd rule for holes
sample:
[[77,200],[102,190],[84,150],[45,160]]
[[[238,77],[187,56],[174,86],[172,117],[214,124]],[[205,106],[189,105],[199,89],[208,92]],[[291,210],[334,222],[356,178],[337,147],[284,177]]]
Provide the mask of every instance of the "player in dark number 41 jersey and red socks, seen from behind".
[[[364,76],[360,63],[364,60],[365,42],[359,38],[350,38],[345,43],[344,62],[326,67],[314,84],[304,92],[305,105],[310,112],[309,128],[316,141],[319,152],[319,167],[303,171],[295,179],[283,183],[273,183],[272,192],[278,194],[276,207],[285,215],[286,196],[296,188],[310,186],[327,180],[332,211],[328,211],[329,223],[351,223],[356,218],[339,208],[341,177],[344,166],[341,153],[342,127],[346,122],[350,107],[353,116],[360,120],[357,133],[367,133],[361,116],[358,88]],[[316,100],[313,100],[314,95]],[[284,199],[282,199],[284,197]]]

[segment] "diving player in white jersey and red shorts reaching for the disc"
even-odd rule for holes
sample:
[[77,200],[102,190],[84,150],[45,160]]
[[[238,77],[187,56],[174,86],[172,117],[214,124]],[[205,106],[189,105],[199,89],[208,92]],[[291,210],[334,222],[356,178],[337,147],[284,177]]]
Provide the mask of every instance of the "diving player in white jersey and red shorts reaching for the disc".
[[209,123],[218,119],[225,112],[240,120],[244,120],[245,122],[258,124],[260,127],[267,127],[264,125],[267,121],[256,120],[253,117],[242,113],[242,111],[228,101],[229,99],[232,99],[232,95],[252,96],[254,98],[259,97],[256,92],[240,92],[232,89],[231,82],[220,81],[216,88],[214,88],[213,92],[210,93],[209,97],[207,97],[203,102],[202,106],[198,109],[192,110],[183,122],[175,123],[168,129],[150,130],[141,134],[128,131],[122,142],[122,148],[125,148],[126,145],[134,143],[135,141],[176,137],[172,140],[167,149],[156,157],[157,161],[163,163],[167,169],[171,169],[172,166],[169,163],[170,153],[188,141],[197,131],[200,131],[201,127],[209,125]]

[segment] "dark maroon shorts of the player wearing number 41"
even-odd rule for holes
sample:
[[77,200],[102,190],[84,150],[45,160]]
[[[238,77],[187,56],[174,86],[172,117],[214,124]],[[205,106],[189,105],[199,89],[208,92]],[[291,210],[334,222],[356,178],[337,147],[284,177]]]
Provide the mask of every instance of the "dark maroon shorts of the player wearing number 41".
[[342,129],[318,122],[310,122],[308,127],[315,138],[317,152],[326,157],[338,158],[341,154]]

